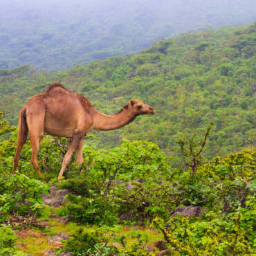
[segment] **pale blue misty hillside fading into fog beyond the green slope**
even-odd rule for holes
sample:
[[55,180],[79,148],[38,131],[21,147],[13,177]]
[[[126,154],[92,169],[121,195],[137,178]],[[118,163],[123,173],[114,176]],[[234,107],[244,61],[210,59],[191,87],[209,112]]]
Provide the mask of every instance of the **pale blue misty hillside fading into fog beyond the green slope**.
[[189,30],[255,18],[253,0],[1,0],[0,68],[64,70]]

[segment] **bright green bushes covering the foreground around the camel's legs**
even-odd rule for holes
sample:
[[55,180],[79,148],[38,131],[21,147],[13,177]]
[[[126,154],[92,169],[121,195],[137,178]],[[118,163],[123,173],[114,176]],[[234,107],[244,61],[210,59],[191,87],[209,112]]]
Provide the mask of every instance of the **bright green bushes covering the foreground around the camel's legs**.
[[[1,124],[1,131],[8,127],[6,122]],[[91,138],[84,145],[82,170],[71,163],[66,179],[56,183],[64,149],[60,145],[65,140],[46,136],[39,156],[46,185],[37,179],[29,163],[28,143],[19,172],[12,174],[15,140],[14,133],[0,145],[0,223],[8,223],[12,214],[28,219],[49,218],[51,211],[42,202],[41,193],[47,192],[48,185],[67,188],[69,200],[57,213],[68,216],[80,228],[59,253],[69,250],[74,255],[148,255],[147,233],[135,232],[133,237],[137,241],[130,241],[128,234],[118,235],[118,225],[134,223],[163,232],[166,248],[172,255],[254,252],[256,152],[247,149],[222,159],[218,156],[209,163],[199,163],[191,172],[190,167],[171,168],[154,143],[123,140],[120,147],[106,150],[97,149],[95,138]],[[192,151],[202,147],[192,140]],[[178,207],[189,205],[199,207],[200,214],[177,214]],[[83,225],[93,225],[93,231]],[[0,227],[0,254],[26,255],[12,247],[16,239],[12,228]],[[42,232],[47,233],[47,228]],[[113,246],[116,241],[120,246]]]

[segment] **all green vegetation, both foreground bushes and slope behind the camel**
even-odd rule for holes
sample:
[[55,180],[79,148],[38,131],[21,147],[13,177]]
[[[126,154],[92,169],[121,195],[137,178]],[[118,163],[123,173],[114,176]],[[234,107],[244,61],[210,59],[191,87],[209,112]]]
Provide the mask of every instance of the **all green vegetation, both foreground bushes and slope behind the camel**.
[[[255,26],[187,33],[139,55],[57,73],[0,70],[0,255],[26,255],[14,248],[14,231],[53,214],[77,225],[56,253],[149,255],[147,232],[120,232],[132,225],[158,230],[171,255],[255,253]],[[13,174],[17,129],[9,123],[16,125],[21,105],[55,80],[104,113],[138,98],[156,115],[89,134],[82,167],[73,156],[60,183],[68,140],[42,140],[44,183],[30,163],[28,138]],[[58,209],[42,201],[53,187],[69,191]],[[187,208],[196,212],[182,215]],[[13,216],[26,221],[12,224]]]

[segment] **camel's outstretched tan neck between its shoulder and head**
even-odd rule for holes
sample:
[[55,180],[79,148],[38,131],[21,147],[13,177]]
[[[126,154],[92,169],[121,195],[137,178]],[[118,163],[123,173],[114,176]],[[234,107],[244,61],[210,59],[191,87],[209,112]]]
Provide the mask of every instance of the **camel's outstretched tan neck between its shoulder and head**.
[[93,129],[108,131],[118,129],[124,125],[133,121],[136,116],[134,113],[130,113],[127,109],[122,109],[120,113],[109,116],[104,113],[100,113],[96,109],[93,109]]

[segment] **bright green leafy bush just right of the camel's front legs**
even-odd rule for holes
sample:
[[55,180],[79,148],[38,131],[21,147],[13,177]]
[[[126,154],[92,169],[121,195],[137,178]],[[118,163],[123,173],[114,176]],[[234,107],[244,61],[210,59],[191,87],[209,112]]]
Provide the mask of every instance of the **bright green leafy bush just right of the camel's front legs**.
[[[87,154],[86,148],[84,154]],[[113,179],[130,181],[150,177],[161,181],[168,172],[165,158],[154,143],[124,139],[120,147],[98,150],[88,172],[91,178],[100,180],[107,194]]]

